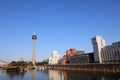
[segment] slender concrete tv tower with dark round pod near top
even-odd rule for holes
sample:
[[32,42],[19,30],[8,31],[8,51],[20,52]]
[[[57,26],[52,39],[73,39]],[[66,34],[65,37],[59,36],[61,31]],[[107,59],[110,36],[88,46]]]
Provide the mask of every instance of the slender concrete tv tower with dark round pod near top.
[[37,36],[36,34],[34,33],[32,35],[32,41],[33,41],[33,48],[32,48],[32,64],[33,66],[35,66],[35,49],[36,49],[36,39],[37,39]]

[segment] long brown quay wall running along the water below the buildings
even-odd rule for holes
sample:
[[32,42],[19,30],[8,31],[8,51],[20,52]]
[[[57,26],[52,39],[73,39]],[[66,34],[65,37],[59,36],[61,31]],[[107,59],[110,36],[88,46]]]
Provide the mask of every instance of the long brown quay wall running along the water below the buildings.
[[45,68],[57,70],[79,70],[79,71],[103,71],[103,72],[120,72],[120,63],[114,64],[59,64],[44,65]]

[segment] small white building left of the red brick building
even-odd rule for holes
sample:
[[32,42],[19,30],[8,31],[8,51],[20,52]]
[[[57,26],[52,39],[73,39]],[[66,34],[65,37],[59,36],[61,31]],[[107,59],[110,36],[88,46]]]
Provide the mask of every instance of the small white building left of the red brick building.
[[49,64],[59,64],[60,63],[60,55],[57,51],[52,51],[52,56],[49,57]]

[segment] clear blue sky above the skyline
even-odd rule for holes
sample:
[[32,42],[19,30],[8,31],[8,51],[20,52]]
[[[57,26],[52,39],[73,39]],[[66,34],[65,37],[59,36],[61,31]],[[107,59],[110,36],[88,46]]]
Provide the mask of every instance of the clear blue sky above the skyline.
[[0,0],[1,60],[30,61],[34,32],[36,61],[53,50],[93,52],[95,35],[107,45],[120,41],[120,0]]

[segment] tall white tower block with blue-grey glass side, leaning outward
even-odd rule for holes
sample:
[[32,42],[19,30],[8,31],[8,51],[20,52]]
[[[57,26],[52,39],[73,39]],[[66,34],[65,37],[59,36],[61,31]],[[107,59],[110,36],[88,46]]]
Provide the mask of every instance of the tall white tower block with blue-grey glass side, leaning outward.
[[94,38],[92,38],[92,44],[95,63],[102,63],[101,49],[106,46],[105,40],[101,36],[96,35]]

